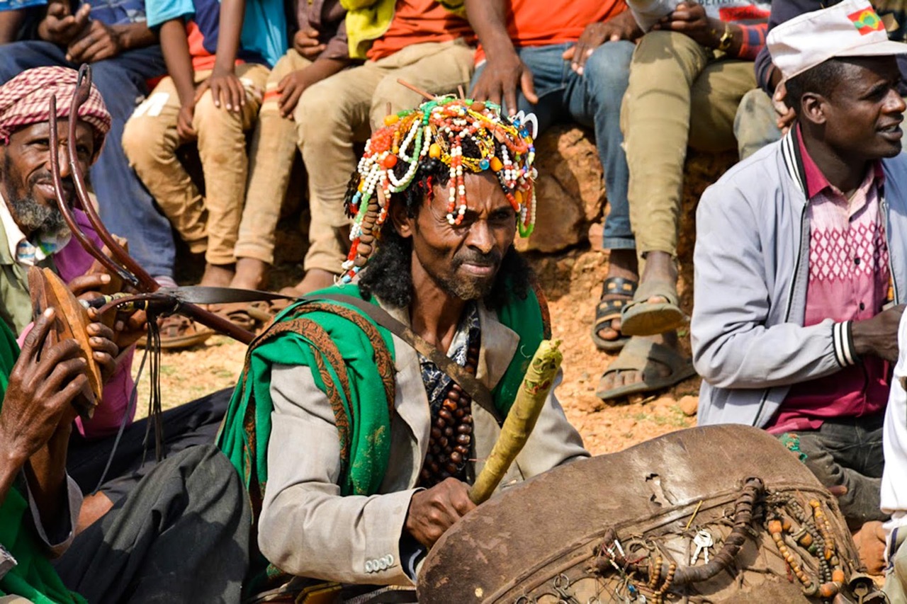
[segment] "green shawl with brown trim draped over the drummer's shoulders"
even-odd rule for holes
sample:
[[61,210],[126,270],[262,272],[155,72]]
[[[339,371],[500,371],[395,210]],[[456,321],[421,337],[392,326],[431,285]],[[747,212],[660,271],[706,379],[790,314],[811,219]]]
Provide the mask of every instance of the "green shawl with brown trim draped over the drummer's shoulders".
[[[319,294],[362,297],[354,285],[329,287],[310,297]],[[374,297],[366,301],[377,305]],[[492,392],[495,406],[506,415],[532,355],[541,340],[550,336],[550,326],[544,298],[532,289],[525,299],[511,295],[498,318],[520,336],[517,353]],[[268,482],[271,366],[276,364],[306,365],[318,389],[327,395],[340,440],[340,491],[344,495],[375,494],[390,456],[395,400],[393,338],[355,307],[333,300],[298,302],[280,313],[249,346],[219,434],[221,450],[249,489],[254,517],[258,518]],[[268,575],[278,573],[273,567],[268,569]],[[262,579],[253,578],[250,588],[262,587]]]

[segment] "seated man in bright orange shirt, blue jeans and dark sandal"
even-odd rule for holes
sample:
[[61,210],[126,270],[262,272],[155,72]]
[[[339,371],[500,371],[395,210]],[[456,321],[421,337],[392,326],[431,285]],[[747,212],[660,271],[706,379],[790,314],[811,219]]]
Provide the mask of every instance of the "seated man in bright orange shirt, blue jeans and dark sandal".
[[[592,326],[600,350],[617,352],[620,308],[637,285],[636,244],[629,225],[627,158],[620,102],[629,63],[642,35],[623,0],[576,0],[552,10],[546,0],[466,0],[479,35],[473,96],[503,102],[513,114],[534,112],[539,131],[574,120],[595,130],[610,211],[602,233],[608,276]],[[571,63],[570,71],[565,70]]]

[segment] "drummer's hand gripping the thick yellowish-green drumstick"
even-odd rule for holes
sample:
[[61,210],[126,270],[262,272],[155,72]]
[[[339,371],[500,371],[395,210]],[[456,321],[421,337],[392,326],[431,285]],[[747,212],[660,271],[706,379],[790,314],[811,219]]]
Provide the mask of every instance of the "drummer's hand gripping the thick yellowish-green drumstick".
[[413,495],[406,513],[405,530],[415,541],[431,548],[444,531],[474,508],[475,503],[469,499],[469,486],[448,478]]

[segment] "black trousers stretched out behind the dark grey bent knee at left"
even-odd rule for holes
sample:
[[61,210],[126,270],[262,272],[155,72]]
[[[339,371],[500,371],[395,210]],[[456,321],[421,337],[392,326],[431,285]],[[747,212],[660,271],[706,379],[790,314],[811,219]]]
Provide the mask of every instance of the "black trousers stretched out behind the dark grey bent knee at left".
[[[164,455],[170,456],[197,444],[213,444],[232,394],[233,389],[227,388],[191,403],[180,404],[161,414]],[[154,428],[151,427],[146,446],[147,429],[146,418],[127,426],[123,431],[110,470],[100,489],[112,502],[132,492],[141,478],[151,472],[156,464]],[[86,440],[79,434],[73,434],[70,438],[66,472],[78,483],[83,493],[98,488],[104,466],[110,459],[114,438],[108,436]]]

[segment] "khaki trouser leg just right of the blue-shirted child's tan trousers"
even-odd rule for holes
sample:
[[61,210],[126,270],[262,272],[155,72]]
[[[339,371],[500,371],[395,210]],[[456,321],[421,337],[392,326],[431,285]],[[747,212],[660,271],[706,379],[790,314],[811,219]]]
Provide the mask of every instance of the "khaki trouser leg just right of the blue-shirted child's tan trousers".
[[[296,154],[296,123],[280,115],[278,84],[289,73],[312,64],[307,58],[289,49],[280,57],[268,75],[265,100],[258,112],[258,122],[249,150],[249,186],[246,188],[246,207],[239,222],[236,242],[237,258],[255,258],[274,264],[275,232],[280,218],[280,206],[287,195],[290,170]],[[303,97],[308,91],[303,93]],[[301,97],[300,97],[301,98]],[[334,269],[336,272],[336,268]]]

